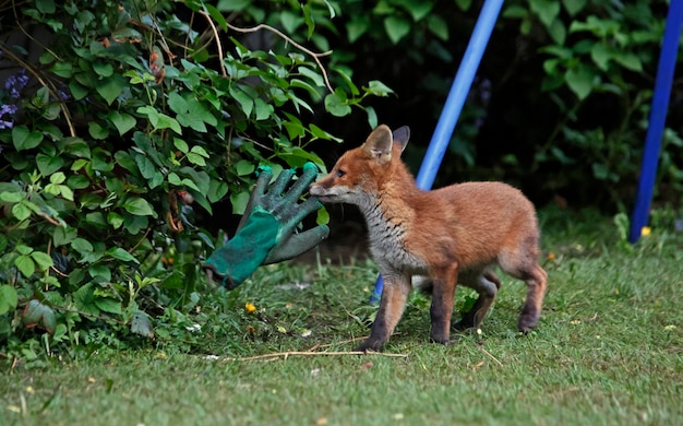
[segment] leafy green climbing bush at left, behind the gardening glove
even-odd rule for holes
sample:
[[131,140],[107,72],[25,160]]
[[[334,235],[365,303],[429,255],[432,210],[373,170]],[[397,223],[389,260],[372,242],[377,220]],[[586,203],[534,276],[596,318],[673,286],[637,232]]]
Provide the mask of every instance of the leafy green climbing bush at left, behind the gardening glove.
[[[255,10],[235,3],[11,3],[17,19],[2,17],[0,45],[4,345],[152,336],[151,317],[182,330],[206,285],[200,260],[223,244],[195,214],[228,217],[214,211],[228,196],[242,213],[259,164],[324,169],[308,145],[338,139],[312,122],[320,105],[344,117],[391,93],[327,71],[326,54],[280,29],[239,26]],[[271,17],[301,21],[290,29],[305,38],[316,15],[334,16],[317,2],[277,7]],[[256,29],[265,42],[248,48]]]

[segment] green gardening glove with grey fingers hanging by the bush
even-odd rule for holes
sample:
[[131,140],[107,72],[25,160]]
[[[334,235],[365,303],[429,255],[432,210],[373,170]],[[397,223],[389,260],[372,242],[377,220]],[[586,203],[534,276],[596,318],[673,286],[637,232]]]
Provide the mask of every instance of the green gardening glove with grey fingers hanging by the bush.
[[325,225],[296,233],[299,222],[319,210],[322,203],[314,197],[300,204],[297,202],[317,176],[313,163],[303,165],[302,175],[285,193],[293,176],[293,169],[283,170],[266,192],[273,170],[267,166],[260,167],[256,186],[235,237],[203,264],[209,279],[232,289],[261,264],[292,259],[327,237],[329,228]]

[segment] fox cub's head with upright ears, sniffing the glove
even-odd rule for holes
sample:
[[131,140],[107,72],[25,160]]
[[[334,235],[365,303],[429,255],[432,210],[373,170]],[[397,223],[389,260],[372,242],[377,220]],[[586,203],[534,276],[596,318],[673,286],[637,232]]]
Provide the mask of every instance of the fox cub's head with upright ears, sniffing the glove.
[[379,126],[362,145],[344,153],[329,174],[311,186],[311,196],[324,203],[363,203],[392,175],[409,138],[407,126],[394,132]]

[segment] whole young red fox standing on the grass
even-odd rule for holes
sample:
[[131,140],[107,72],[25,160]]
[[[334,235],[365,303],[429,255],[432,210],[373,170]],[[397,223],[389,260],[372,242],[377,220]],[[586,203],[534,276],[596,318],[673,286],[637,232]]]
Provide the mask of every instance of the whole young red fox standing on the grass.
[[392,133],[379,126],[310,188],[323,203],[358,205],[384,279],[372,331],[358,350],[380,351],[388,341],[404,312],[412,275],[431,281],[433,342],[450,343],[457,283],[474,288],[479,297],[454,328],[479,328],[501,286],[492,271],[495,264],[526,282],[517,327],[530,331],[539,320],[548,280],[538,263],[540,232],[534,205],[503,182],[419,189],[400,161],[409,135],[408,127]]

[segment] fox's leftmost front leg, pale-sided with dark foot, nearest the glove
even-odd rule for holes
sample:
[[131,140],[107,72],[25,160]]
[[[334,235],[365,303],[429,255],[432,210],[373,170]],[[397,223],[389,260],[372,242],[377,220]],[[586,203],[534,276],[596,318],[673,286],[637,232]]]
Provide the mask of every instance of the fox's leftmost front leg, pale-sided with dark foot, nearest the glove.
[[372,323],[370,338],[361,343],[357,351],[381,351],[394,332],[406,308],[406,301],[411,289],[410,276],[398,273],[383,273],[382,276],[384,288],[380,299],[380,310]]

